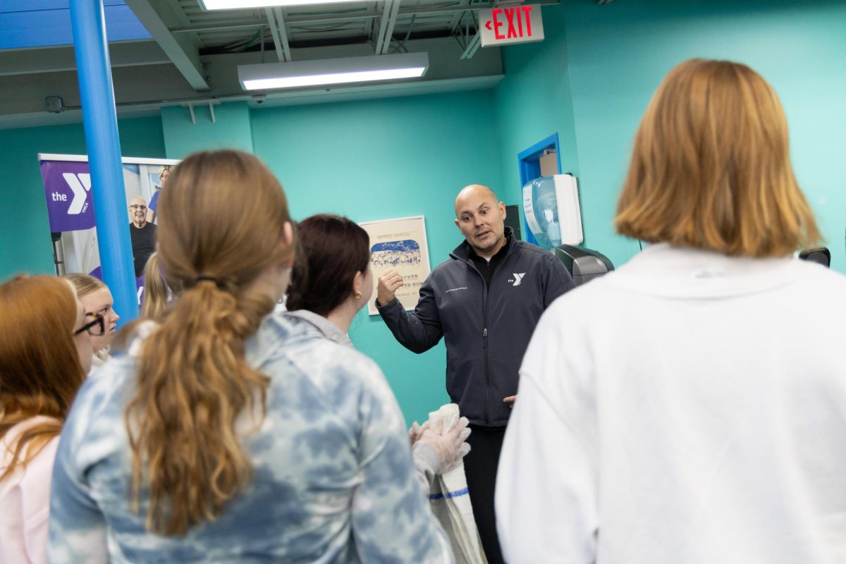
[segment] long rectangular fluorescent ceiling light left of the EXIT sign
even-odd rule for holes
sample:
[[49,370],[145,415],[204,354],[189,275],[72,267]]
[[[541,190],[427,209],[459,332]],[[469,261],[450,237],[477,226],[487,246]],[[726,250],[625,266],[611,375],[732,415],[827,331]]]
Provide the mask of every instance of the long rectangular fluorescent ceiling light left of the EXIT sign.
[[244,90],[273,90],[338,85],[372,80],[410,79],[426,74],[425,52],[346,57],[292,63],[242,64],[238,79]]

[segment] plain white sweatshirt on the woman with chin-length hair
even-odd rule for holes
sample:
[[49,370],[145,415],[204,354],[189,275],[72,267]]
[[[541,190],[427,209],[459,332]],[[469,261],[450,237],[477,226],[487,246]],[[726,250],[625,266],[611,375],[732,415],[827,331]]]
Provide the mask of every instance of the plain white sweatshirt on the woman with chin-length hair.
[[497,475],[509,564],[846,562],[846,277],[655,245],[559,298]]

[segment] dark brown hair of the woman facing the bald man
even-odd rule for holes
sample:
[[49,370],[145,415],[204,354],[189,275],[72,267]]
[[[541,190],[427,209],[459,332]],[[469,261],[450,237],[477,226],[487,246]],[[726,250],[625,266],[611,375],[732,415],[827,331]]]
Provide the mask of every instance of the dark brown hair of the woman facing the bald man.
[[352,293],[357,272],[370,262],[370,237],[342,216],[318,214],[297,226],[302,260],[294,264],[288,310],[308,309],[324,317]]

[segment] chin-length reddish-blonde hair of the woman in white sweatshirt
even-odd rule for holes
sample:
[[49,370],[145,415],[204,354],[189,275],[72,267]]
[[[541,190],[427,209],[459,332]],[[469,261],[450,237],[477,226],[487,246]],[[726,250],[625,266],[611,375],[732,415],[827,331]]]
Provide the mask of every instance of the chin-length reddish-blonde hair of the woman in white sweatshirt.
[[634,137],[614,223],[632,238],[726,255],[783,256],[816,243],[772,86],[740,63],[673,68]]

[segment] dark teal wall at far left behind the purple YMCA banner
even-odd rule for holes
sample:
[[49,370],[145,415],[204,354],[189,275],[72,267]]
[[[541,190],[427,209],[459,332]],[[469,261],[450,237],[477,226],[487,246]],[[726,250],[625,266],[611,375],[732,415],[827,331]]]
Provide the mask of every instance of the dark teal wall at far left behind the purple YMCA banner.
[[[164,157],[161,119],[124,119],[118,129],[124,156]],[[0,280],[55,272],[38,153],[85,155],[82,124],[0,129]]]

